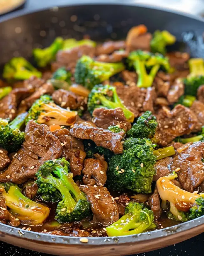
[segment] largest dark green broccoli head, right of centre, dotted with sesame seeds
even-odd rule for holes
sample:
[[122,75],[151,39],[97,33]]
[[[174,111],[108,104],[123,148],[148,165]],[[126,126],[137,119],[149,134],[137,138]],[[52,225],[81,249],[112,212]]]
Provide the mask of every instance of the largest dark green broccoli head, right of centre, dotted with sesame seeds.
[[136,193],[151,193],[155,146],[149,139],[126,139],[123,153],[113,155],[108,161],[107,187],[118,192],[128,189]]

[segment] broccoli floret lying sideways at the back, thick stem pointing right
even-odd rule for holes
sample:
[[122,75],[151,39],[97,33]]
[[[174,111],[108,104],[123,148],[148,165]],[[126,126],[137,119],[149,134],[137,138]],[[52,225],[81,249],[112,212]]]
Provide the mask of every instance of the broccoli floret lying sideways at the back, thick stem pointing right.
[[123,63],[106,63],[91,59],[89,56],[82,56],[77,61],[74,77],[77,84],[84,85],[91,90],[94,85],[108,80],[111,76],[124,70]]

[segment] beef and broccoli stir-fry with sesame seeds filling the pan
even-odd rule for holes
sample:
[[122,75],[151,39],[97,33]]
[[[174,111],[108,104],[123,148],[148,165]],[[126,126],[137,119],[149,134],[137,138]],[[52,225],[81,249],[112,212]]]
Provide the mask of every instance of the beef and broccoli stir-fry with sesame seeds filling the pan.
[[123,236],[204,215],[204,61],[133,27],[58,37],[0,80],[0,221]]

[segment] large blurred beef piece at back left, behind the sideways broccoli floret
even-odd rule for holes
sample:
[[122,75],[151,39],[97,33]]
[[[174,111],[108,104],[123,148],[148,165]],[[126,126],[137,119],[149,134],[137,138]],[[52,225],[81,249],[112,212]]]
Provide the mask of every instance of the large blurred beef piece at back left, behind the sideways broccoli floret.
[[81,45],[70,50],[60,50],[57,52],[56,61],[52,63],[52,71],[65,67],[67,69],[75,68],[77,60],[83,55],[94,57],[95,48],[90,45]]

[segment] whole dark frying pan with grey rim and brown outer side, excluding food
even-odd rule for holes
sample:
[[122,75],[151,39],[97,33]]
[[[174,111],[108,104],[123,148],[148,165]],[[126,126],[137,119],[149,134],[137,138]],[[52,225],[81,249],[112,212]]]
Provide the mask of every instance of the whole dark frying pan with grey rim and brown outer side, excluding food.
[[[47,47],[56,36],[81,39],[88,34],[96,41],[118,40],[125,38],[128,30],[138,24],[145,24],[149,32],[166,29],[177,37],[177,49],[183,47],[183,50],[191,52],[192,57],[204,57],[204,22],[199,18],[134,3],[110,4],[109,1],[109,4],[74,5],[73,1],[72,4],[27,14],[18,11],[1,18],[0,67],[13,56],[31,58],[33,48]],[[58,255],[99,253],[108,256],[158,249],[203,231],[204,217],[200,217],[141,235],[89,238],[88,243],[82,243],[78,237],[51,236],[0,224],[0,240]]]

